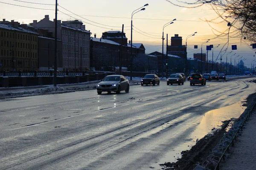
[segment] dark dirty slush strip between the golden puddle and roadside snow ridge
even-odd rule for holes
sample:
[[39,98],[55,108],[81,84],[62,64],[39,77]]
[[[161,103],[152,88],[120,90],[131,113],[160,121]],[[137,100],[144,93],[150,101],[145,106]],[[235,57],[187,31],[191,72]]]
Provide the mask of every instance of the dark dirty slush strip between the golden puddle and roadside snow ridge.
[[[256,82],[256,80],[253,82]],[[190,150],[182,151],[182,157],[177,159],[176,162],[165,162],[160,164],[162,167],[161,170],[193,170],[197,165],[201,165],[202,167],[207,167],[208,169],[214,170],[215,164],[212,164],[212,162],[207,160],[207,157],[211,155],[212,150],[225,135],[230,135],[227,133],[230,129],[232,129],[232,126],[238,122],[242,122],[245,119],[245,116],[249,113],[255,102],[256,93],[247,97],[246,102],[242,105],[247,108],[245,109],[244,113],[239,116],[238,119],[230,119],[222,122],[221,127],[213,128],[210,133],[204,136],[204,138],[197,140],[196,144]],[[225,149],[226,148],[222,148],[222,150]],[[215,161],[218,162],[220,156],[221,155],[219,154],[218,156],[212,157],[214,157]]]

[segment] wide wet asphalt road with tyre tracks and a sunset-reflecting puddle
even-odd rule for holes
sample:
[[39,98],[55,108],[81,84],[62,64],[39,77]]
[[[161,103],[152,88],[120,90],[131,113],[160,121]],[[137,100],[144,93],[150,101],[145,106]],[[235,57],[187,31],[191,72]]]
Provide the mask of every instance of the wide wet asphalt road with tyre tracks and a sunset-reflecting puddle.
[[174,161],[221,121],[239,117],[254,79],[2,99],[0,169],[160,169],[157,164]]

